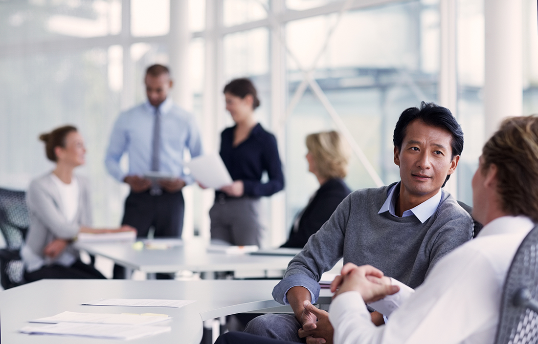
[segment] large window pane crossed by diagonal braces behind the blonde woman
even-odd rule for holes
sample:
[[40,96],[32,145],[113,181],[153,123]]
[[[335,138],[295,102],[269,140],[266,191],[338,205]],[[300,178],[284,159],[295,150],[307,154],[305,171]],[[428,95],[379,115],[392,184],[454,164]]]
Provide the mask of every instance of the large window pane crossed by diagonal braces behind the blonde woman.
[[[349,11],[339,23],[337,20],[333,13],[286,26],[287,45],[295,56],[288,55],[288,99],[302,81],[299,67],[312,68],[320,56],[314,78],[324,95],[381,180],[387,184],[398,181],[398,166],[393,162],[394,125],[403,110],[437,98],[438,7],[411,1]],[[338,127],[328,110],[307,89],[287,121],[288,224],[319,187],[308,173],[305,137],[332,129]],[[352,190],[376,186],[356,154],[345,180]]]

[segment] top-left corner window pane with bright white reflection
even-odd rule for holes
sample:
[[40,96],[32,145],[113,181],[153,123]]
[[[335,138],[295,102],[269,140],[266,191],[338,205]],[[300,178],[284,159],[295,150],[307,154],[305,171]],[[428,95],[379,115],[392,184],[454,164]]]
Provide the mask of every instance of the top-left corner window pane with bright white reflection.
[[0,43],[118,34],[121,12],[120,0],[0,2]]

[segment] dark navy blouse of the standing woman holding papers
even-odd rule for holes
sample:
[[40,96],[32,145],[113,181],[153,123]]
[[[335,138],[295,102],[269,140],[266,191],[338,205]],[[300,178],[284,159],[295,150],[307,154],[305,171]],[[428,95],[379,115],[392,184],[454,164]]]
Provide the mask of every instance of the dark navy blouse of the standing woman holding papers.
[[[220,154],[232,180],[243,181],[244,195],[271,196],[284,189],[284,174],[274,135],[265,131],[258,123],[245,141],[233,147],[235,128],[226,128],[222,132]],[[261,182],[264,171],[267,171],[269,177],[267,183]],[[216,195],[218,197],[224,194],[217,191]]]

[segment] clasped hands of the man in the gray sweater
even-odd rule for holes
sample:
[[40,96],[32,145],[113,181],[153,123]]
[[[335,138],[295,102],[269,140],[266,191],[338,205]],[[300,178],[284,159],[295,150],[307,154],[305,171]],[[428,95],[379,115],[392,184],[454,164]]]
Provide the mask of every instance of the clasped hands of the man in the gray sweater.
[[307,344],[332,343],[334,329],[329,321],[329,313],[316,308],[308,301],[303,302],[303,306],[303,314],[309,321],[303,323],[303,327],[299,329],[299,337],[306,338]]

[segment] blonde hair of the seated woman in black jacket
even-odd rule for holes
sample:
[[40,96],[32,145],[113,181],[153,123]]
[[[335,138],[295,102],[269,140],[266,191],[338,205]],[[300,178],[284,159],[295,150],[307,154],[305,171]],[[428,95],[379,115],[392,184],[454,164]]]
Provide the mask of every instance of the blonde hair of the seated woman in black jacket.
[[349,146],[336,131],[310,134],[306,147],[323,178],[344,178],[348,174]]

